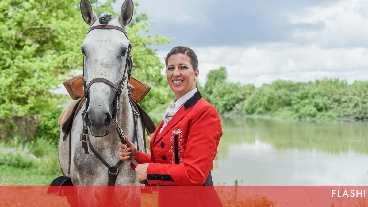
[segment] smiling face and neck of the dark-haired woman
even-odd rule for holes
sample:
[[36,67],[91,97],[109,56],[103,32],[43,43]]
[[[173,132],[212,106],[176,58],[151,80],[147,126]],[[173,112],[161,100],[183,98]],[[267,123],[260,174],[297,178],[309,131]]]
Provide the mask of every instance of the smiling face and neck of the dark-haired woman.
[[198,75],[199,70],[193,70],[190,57],[185,54],[174,54],[167,59],[167,82],[175,93],[176,100],[195,89],[195,80]]

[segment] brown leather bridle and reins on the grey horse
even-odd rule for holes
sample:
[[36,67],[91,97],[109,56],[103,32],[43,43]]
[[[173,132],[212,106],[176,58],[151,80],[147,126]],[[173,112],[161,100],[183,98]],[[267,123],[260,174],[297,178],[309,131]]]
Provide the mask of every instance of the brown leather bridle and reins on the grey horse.
[[[124,74],[123,74],[123,78],[119,82],[119,85],[118,86],[116,86],[114,83],[112,83],[111,81],[109,81],[109,80],[107,80],[105,78],[95,78],[95,79],[92,79],[88,83],[88,85],[87,85],[87,82],[85,81],[85,79],[83,80],[83,92],[84,92],[84,99],[86,100],[86,104],[85,104],[85,109],[82,112],[82,117],[83,117],[83,132],[81,133],[81,136],[80,136],[80,140],[82,141],[82,147],[84,148],[84,152],[86,154],[89,154],[89,152],[88,152],[88,146],[89,146],[89,148],[91,149],[91,151],[93,152],[93,154],[95,154],[95,156],[102,162],[102,164],[104,164],[107,167],[107,172],[108,172],[108,175],[109,175],[108,185],[115,185],[116,178],[117,178],[117,175],[119,173],[119,167],[120,167],[120,164],[123,163],[123,161],[119,159],[119,161],[115,165],[110,165],[93,148],[91,141],[88,139],[88,129],[89,128],[84,123],[84,115],[85,115],[85,113],[86,113],[86,111],[88,109],[88,106],[89,106],[89,89],[91,88],[92,84],[93,83],[97,83],[97,82],[102,82],[102,83],[106,83],[107,85],[111,86],[116,91],[114,102],[113,102],[113,114],[112,114],[113,117],[112,118],[115,121],[116,131],[118,133],[118,136],[120,138],[121,143],[124,143],[126,145],[124,132],[121,129],[121,127],[120,127],[120,125],[118,124],[118,121],[117,121],[117,113],[118,113],[118,110],[119,110],[119,104],[118,104],[119,96],[120,96],[120,94],[123,91],[123,86],[124,86],[125,81],[127,79],[130,80],[130,76],[131,76],[132,62],[133,62],[131,50],[132,50],[133,47],[132,47],[132,45],[131,45],[131,43],[129,41],[127,32],[125,31],[124,28],[121,28],[119,26],[112,26],[112,25],[98,25],[98,26],[92,26],[91,28],[89,28],[88,33],[91,32],[94,29],[116,29],[118,31],[123,32],[124,35],[125,35],[125,37],[128,39],[128,42],[129,42],[128,51],[127,51],[126,60],[125,60]],[[128,76],[125,76],[125,73],[127,73]],[[84,57],[83,57],[83,76],[84,76]],[[133,110],[133,114],[135,116],[134,117],[134,135],[135,136],[133,137],[132,143],[135,143],[135,140],[137,140],[137,149],[139,150],[139,147],[138,147],[138,136],[139,135],[138,135],[138,129],[137,129],[138,113],[137,113],[137,111],[134,109],[134,107],[132,105],[132,99],[131,99],[131,96],[130,96],[130,91],[128,91],[128,94],[129,94],[129,103],[131,105],[131,108]],[[108,133],[108,131],[103,136],[106,136],[107,133]],[[135,161],[131,157],[130,157],[130,161],[135,166],[138,165],[137,161]],[[68,170],[68,174],[70,174],[70,169]]]

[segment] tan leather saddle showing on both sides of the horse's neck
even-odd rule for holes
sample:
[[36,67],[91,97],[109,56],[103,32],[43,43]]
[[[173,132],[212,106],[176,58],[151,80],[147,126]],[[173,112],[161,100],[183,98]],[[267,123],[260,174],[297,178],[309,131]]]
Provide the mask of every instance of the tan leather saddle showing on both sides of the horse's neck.
[[[64,82],[64,86],[72,99],[76,100],[84,97],[83,80],[84,77],[81,75],[75,76]],[[128,88],[130,88],[131,97],[138,103],[141,102],[149,90],[151,90],[151,86],[149,84],[139,81],[134,77],[130,77],[128,86]]]

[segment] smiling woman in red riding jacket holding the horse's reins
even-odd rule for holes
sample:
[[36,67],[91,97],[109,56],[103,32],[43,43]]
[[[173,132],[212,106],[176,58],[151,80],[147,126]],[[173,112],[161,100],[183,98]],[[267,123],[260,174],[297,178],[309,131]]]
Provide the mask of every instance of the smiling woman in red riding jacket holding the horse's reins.
[[[119,143],[121,160],[130,156],[138,181],[156,185],[213,185],[210,171],[222,136],[219,114],[197,90],[198,58],[188,47],[178,46],[166,56],[166,76],[175,99],[166,109],[151,142],[151,155]],[[217,196],[217,194],[216,194]]]

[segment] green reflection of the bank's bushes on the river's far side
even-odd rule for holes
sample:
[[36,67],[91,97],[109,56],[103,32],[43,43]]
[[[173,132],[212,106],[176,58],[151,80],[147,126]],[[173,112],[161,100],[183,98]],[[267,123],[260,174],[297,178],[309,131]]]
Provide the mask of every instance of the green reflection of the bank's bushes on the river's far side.
[[261,118],[222,117],[223,136],[219,155],[226,158],[229,147],[256,140],[278,150],[316,150],[325,153],[368,154],[367,123],[293,122]]

